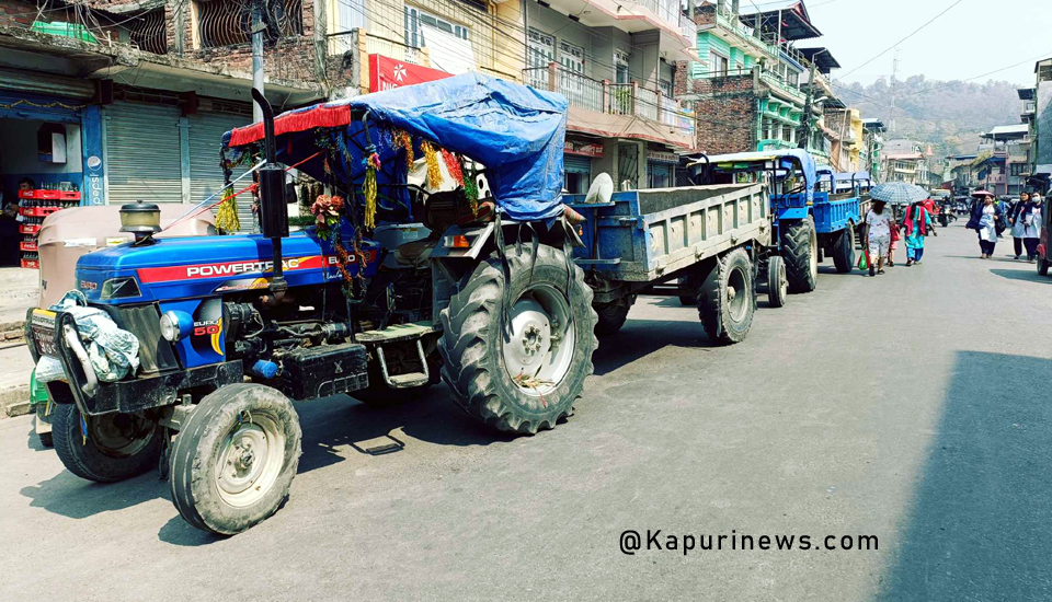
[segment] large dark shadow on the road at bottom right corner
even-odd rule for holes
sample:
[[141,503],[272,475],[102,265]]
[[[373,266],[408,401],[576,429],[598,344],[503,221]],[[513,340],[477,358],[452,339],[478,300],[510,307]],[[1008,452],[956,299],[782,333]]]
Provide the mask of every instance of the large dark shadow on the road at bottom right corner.
[[888,602],[1052,600],[1052,360],[957,355]]

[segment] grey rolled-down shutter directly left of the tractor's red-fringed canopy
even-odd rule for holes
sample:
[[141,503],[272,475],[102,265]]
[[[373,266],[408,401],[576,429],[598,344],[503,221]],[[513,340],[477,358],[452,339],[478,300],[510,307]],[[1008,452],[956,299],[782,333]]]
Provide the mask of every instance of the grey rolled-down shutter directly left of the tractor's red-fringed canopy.
[[[219,166],[219,148],[222,146],[222,135],[236,127],[252,123],[252,117],[230,115],[224,113],[198,113],[186,119],[190,124],[190,200],[194,205],[222,189],[222,167]],[[233,169],[230,180],[237,180],[251,165],[241,165]],[[235,184],[235,192],[252,184],[250,177]],[[215,197],[209,205],[217,202]],[[215,212],[215,210],[213,210]],[[238,219],[241,231],[252,231],[252,195],[238,195]]]

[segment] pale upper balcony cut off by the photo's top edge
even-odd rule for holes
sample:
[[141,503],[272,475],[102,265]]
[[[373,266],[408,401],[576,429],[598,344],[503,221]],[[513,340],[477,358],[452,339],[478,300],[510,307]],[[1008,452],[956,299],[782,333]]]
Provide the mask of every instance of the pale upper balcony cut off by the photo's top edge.
[[700,61],[697,27],[679,10],[679,0],[548,0],[552,10],[588,27],[616,27],[629,34],[656,30],[667,60]]

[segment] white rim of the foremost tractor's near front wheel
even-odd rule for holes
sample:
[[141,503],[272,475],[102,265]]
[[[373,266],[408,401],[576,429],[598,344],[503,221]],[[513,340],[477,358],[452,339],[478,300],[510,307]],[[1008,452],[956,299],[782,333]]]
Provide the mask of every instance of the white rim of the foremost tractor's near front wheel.
[[[245,413],[248,414],[248,413]],[[270,416],[242,417],[219,452],[216,488],[230,506],[243,508],[262,499],[285,463],[285,433]]]

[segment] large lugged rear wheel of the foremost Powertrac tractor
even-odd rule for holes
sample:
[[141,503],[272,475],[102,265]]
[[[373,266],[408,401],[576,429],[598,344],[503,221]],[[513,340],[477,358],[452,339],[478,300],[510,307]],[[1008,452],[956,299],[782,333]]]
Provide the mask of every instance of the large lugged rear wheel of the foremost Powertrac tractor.
[[503,323],[504,271],[494,253],[441,313],[442,379],[470,416],[533,435],[573,412],[593,371],[597,317],[584,273],[571,264],[568,277],[562,251],[540,244],[533,269],[528,247],[507,246],[506,256],[511,324]]

